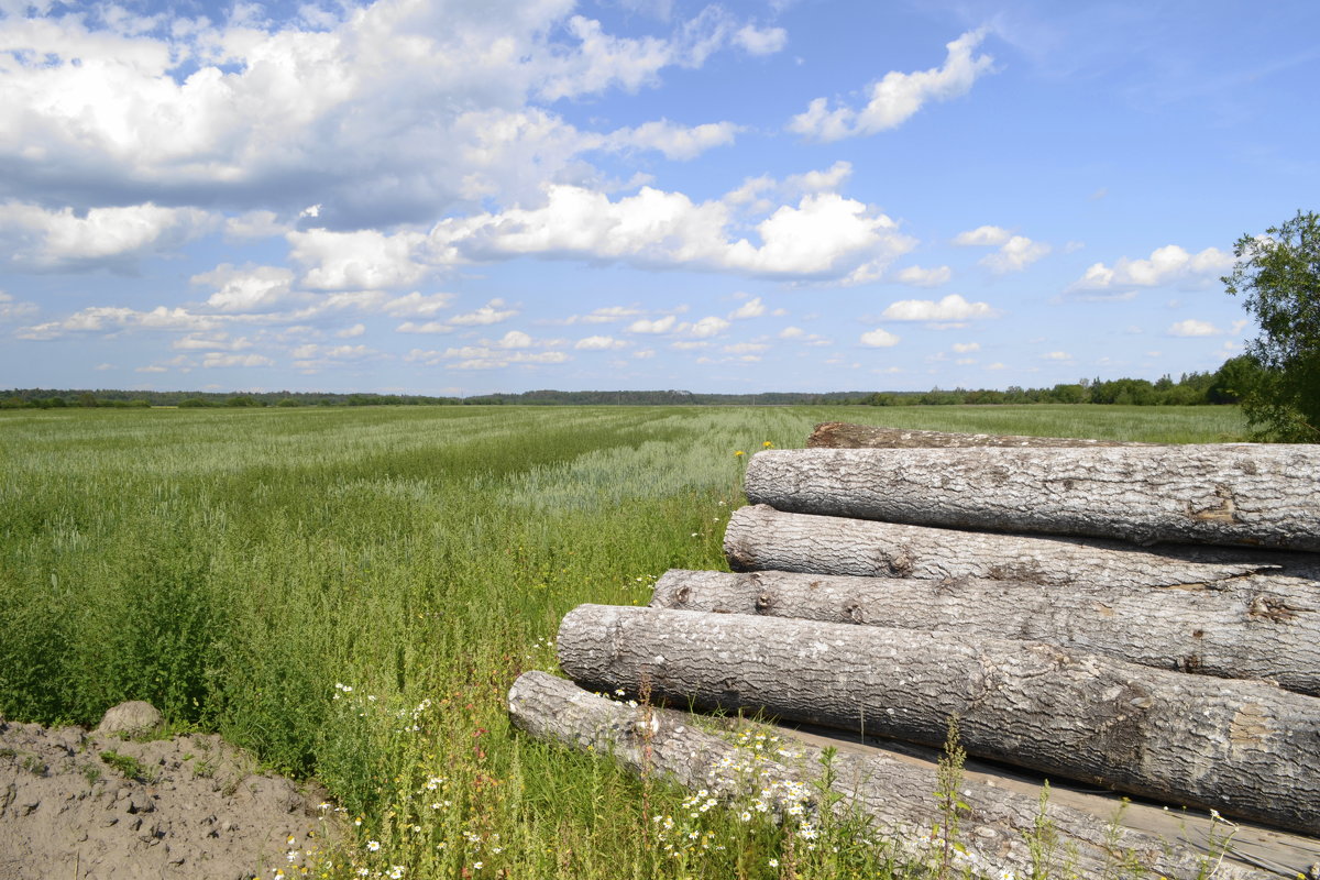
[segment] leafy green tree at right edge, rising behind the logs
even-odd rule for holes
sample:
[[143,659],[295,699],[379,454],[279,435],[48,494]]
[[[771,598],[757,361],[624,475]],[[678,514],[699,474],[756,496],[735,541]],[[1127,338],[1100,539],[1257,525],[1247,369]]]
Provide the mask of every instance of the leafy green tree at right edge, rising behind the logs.
[[1261,365],[1242,398],[1255,434],[1286,442],[1320,441],[1320,214],[1303,212],[1243,235],[1233,247],[1237,265],[1224,276],[1261,325],[1247,354]]

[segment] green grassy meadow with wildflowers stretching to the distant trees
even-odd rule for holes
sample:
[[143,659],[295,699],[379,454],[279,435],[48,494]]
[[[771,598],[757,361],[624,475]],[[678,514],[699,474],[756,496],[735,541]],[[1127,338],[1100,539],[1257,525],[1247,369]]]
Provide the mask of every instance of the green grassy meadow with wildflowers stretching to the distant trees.
[[795,856],[768,821],[506,716],[517,674],[556,669],[566,611],[725,569],[735,453],[828,420],[1246,433],[1229,406],[4,412],[0,712],[95,724],[147,699],[315,777],[358,822],[325,876],[927,876],[847,829]]

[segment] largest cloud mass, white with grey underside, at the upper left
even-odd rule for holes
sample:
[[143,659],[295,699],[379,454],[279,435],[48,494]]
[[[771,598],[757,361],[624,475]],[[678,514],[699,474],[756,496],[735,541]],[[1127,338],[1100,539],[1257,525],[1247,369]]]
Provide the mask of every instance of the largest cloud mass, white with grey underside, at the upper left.
[[[612,36],[561,0],[304,5],[284,26],[249,4],[214,21],[110,8],[112,26],[95,4],[0,20],[12,53],[0,162],[15,191],[58,181],[81,211],[115,181],[119,204],[275,208],[234,224],[235,237],[272,234],[280,216],[352,228],[429,220],[482,189],[535,191],[601,137],[535,102],[635,91],[665,69],[784,40],[715,5],[640,37]],[[470,119],[487,111],[510,125]],[[682,154],[726,136],[698,127],[657,146]]]

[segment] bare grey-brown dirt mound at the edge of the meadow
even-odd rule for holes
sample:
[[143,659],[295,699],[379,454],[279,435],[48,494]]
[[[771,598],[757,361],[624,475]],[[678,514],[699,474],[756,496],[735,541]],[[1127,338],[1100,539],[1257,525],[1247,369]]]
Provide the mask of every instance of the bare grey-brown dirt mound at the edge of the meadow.
[[0,880],[269,877],[313,864],[341,827],[322,792],[256,773],[219,736],[0,718]]

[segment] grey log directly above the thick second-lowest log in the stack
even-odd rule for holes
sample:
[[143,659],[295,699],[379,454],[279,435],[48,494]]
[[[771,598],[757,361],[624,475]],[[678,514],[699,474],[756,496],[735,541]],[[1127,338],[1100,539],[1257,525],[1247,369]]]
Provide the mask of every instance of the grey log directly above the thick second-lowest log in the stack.
[[652,608],[1048,641],[1156,669],[1320,695],[1320,590],[1151,590],[787,571],[665,573]]

